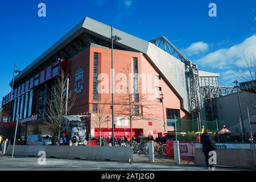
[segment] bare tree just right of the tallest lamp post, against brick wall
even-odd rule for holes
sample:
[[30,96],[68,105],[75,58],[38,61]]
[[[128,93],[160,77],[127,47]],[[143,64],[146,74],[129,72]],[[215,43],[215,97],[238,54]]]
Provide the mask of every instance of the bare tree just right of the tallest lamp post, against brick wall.
[[[135,120],[141,119],[155,119],[154,114],[150,110],[154,110],[154,102],[148,101],[148,95],[139,93],[140,87],[138,84],[138,74],[131,73],[131,65],[127,64],[123,68],[123,74],[125,74],[127,80],[123,82],[122,90],[123,93],[119,94],[117,104],[120,105],[121,109],[117,111],[117,115],[121,115],[123,118],[126,118],[130,121],[130,143],[132,142],[132,123]],[[138,92],[136,91],[138,90]],[[147,110],[143,114],[139,112],[142,109]]]

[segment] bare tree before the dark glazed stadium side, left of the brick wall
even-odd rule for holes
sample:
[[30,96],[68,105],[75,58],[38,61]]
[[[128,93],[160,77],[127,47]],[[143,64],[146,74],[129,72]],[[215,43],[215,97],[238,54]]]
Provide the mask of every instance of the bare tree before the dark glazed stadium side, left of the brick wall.
[[61,73],[56,78],[52,87],[48,89],[48,96],[46,98],[46,110],[43,122],[56,131],[58,139],[61,131],[67,129],[69,125],[69,121],[64,118],[64,115],[69,113],[75,102],[75,96],[73,96],[69,89],[67,94],[68,81],[68,76]]

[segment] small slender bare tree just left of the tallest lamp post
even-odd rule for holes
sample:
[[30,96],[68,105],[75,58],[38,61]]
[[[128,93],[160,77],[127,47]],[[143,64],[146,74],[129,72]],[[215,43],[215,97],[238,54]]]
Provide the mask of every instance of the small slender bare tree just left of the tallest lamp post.
[[100,100],[97,102],[97,111],[95,113],[95,125],[97,126],[97,130],[100,136],[100,146],[101,146],[101,129],[104,127],[106,122],[108,121],[108,112],[109,110],[106,109],[106,104],[108,100]]

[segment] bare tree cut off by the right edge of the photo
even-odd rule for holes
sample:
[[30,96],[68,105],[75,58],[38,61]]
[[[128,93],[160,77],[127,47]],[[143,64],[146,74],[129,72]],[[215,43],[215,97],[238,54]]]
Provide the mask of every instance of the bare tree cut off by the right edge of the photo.
[[[240,69],[237,69],[237,78],[242,83],[242,90],[256,94],[256,57],[250,55],[249,57],[245,52],[242,52],[243,64]],[[256,97],[255,94],[246,94],[247,104],[256,113]]]

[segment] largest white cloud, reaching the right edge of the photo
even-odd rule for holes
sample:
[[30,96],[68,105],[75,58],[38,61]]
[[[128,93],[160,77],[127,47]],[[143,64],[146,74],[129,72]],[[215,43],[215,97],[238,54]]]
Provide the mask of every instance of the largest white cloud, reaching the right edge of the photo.
[[222,48],[211,52],[195,62],[205,68],[231,69],[241,67],[244,61],[242,52],[247,56],[256,55],[256,35],[230,48]]

